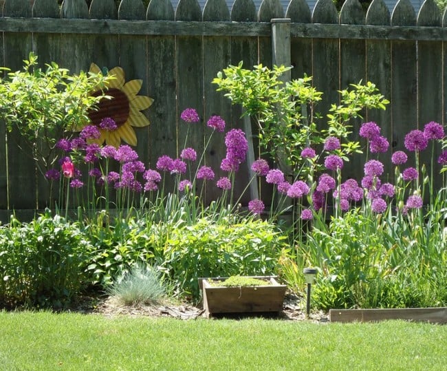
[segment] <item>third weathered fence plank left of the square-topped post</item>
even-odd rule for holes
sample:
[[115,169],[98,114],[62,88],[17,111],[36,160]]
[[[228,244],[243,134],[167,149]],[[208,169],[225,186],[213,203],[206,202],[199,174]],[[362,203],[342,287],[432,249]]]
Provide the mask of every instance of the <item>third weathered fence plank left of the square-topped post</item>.
[[[230,21],[230,11],[225,0],[208,0],[204,7],[204,21]],[[221,92],[216,92],[216,85],[212,79],[217,72],[228,67],[231,62],[230,36],[204,36],[204,120],[210,116],[221,116],[228,125],[231,121],[231,102]],[[228,130],[228,129],[227,129]],[[208,140],[212,129],[205,127],[205,141]],[[223,145],[224,133],[215,131],[212,134],[210,144],[206,149],[206,165],[212,167],[216,180],[222,176],[228,176],[226,171],[220,169],[221,160],[226,156],[226,148]],[[221,195],[221,189],[214,184],[208,188],[207,201],[215,200]]]

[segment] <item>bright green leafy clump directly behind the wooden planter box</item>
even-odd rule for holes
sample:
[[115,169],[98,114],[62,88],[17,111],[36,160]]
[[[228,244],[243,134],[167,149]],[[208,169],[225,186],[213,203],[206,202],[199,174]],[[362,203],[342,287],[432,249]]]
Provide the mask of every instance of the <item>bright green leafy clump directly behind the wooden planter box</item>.
[[274,273],[284,244],[285,237],[268,222],[244,218],[237,224],[216,224],[204,218],[171,230],[162,266],[177,292],[197,299],[200,277]]

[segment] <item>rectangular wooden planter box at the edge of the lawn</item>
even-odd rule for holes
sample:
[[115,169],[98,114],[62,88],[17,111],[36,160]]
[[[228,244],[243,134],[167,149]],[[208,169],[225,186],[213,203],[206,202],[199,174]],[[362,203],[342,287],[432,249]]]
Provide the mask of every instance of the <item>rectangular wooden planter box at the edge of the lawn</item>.
[[276,282],[273,276],[252,276],[266,279],[266,286],[212,286],[212,281],[224,281],[227,277],[201,278],[199,286],[204,297],[206,317],[215,313],[280,312],[283,310],[287,286]]

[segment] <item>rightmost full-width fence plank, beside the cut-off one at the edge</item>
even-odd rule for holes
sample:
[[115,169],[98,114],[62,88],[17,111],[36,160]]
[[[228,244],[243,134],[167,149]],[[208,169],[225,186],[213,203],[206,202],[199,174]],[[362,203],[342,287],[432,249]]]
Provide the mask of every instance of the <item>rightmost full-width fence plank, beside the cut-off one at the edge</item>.
[[[441,13],[433,0],[426,0],[422,4],[417,17],[417,25],[440,27],[442,25]],[[442,123],[444,116],[444,106],[442,98],[442,43],[435,41],[417,42],[417,118],[419,128],[424,129],[424,125],[435,121]],[[435,189],[439,189],[443,184],[441,177],[437,176],[441,167],[436,159],[441,154],[441,145],[437,143],[433,147],[433,141],[429,141],[428,149],[420,153],[420,165],[426,165],[427,175],[434,182]],[[433,157],[432,157],[433,154]],[[433,164],[432,164],[433,159]],[[432,169],[433,165],[433,169]],[[431,176],[433,174],[433,176]],[[426,192],[426,202],[430,202],[428,192]],[[435,197],[435,195],[433,195]]]

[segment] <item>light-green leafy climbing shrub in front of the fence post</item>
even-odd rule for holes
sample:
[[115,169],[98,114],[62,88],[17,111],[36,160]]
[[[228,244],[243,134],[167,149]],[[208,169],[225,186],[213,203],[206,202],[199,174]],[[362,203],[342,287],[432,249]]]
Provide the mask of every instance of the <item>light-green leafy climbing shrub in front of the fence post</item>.
[[[340,105],[332,105],[327,123],[322,125],[323,115],[316,110],[322,92],[312,86],[312,77],[304,76],[283,81],[283,74],[291,67],[274,66],[272,70],[255,65],[246,70],[230,65],[218,72],[212,83],[217,91],[226,92],[232,104],[243,107],[243,115],[253,118],[259,127],[259,145],[283,169],[289,169],[294,177],[309,171],[304,167],[301,150],[322,143],[327,136],[347,140],[351,134],[351,118],[361,117],[365,108],[384,109],[388,100],[371,82],[351,85],[340,91]],[[360,151],[358,142],[344,143],[340,156]],[[316,165],[314,162],[313,165]]]

